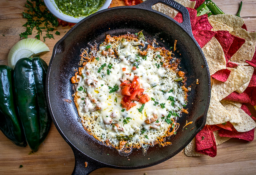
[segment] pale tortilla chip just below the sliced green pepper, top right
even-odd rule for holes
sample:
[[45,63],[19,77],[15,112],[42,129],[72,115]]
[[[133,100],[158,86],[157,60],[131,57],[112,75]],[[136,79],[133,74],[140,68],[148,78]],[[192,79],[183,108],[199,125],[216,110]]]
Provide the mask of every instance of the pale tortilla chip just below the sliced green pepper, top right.
[[224,23],[233,29],[242,27],[244,24],[244,20],[242,18],[230,14],[211,15],[209,18],[211,20]]

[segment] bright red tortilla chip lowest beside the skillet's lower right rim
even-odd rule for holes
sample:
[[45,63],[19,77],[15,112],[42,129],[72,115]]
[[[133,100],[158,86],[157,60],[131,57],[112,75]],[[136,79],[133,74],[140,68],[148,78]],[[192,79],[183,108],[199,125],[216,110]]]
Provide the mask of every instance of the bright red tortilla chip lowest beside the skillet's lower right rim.
[[210,126],[206,125],[200,132],[198,132],[198,134],[196,134],[196,150],[197,151],[208,149],[213,146],[211,132],[212,130],[210,129]]

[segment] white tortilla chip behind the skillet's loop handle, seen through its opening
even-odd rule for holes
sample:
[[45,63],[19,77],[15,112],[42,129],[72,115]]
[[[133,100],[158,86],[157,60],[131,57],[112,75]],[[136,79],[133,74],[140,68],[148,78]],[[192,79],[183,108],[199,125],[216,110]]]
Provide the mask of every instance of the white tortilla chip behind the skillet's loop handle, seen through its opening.
[[[189,7],[189,8],[194,8],[196,5],[196,1],[192,2],[190,0],[176,0],[176,2],[180,3],[182,6]],[[158,12],[161,12],[163,14],[166,14],[171,18],[174,18],[178,14],[178,12],[173,8],[170,8],[161,3],[155,4],[154,6],[152,6],[152,9]]]

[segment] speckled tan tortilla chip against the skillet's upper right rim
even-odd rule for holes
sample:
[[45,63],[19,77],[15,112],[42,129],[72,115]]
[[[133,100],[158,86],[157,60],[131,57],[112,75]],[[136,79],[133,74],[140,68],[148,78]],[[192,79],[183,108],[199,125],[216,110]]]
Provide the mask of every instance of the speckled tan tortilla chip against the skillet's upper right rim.
[[221,69],[226,69],[226,58],[220,43],[215,37],[202,48],[204,56],[208,63],[210,75],[213,75]]

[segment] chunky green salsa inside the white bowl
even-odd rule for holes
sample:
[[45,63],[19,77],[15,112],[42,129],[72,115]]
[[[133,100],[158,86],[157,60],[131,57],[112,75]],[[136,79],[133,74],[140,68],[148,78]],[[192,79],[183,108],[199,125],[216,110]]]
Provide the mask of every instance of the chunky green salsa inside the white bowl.
[[55,0],[62,13],[74,17],[88,16],[97,12],[105,2],[106,0]]

